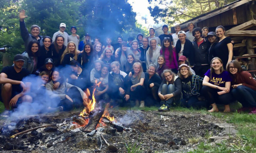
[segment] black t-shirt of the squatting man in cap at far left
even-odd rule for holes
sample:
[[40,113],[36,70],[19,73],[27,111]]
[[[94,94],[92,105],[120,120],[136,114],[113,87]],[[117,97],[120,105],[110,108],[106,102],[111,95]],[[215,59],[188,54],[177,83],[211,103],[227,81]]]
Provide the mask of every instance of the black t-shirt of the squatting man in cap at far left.
[[[30,74],[30,72],[22,68],[21,72],[17,73],[13,66],[6,66],[2,69],[1,73],[5,73],[8,79],[22,81],[22,79]],[[20,85],[12,85],[12,93],[16,92],[16,94],[20,93],[22,88]]]

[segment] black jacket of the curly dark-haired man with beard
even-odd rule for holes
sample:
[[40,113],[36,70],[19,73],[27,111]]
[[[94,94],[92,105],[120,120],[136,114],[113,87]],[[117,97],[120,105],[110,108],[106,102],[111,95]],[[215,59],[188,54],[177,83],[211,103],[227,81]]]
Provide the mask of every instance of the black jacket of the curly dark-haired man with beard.
[[205,38],[204,42],[200,44],[200,46],[197,45],[197,40],[194,40],[193,48],[194,48],[194,56],[195,56],[195,66],[201,66],[203,64],[209,64],[209,55],[208,55],[208,49],[210,48],[210,42],[206,41]]

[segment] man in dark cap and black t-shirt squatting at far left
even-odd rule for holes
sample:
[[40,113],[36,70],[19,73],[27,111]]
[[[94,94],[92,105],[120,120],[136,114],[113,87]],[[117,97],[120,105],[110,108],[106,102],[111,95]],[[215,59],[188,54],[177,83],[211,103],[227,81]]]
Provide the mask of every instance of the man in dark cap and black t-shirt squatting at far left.
[[[5,110],[10,110],[10,106],[16,106],[19,98],[24,96],[28,85],[22,82],[23,78],[28,76],[30,72],[22,68],[25,57],[18,54],[14,56],[13,66],[6,66],[0,73],[0,84],[2,84],[1,95]],[[4,112],[5,114],[8,111]]]

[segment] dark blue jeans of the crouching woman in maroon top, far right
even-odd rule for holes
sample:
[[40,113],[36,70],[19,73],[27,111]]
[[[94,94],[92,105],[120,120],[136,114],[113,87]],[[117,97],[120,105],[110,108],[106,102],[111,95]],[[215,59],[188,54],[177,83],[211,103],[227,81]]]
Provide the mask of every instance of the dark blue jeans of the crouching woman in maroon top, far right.
[[237,88],[231,90],[232,95],[243,105],[243,107],[256,107],[256,91],[239,85]]

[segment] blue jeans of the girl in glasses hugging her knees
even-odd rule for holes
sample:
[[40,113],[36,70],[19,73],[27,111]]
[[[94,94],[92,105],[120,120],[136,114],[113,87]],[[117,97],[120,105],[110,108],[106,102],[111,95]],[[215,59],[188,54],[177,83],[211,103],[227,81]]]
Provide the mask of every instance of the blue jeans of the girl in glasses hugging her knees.
[[[163,95],[171,94],[174,91],[175,91],[175,86],[173,84],[170,84],[170,85],[164,84],[162,86],[161,94],[163,94]],[[180,95],[176,95],[175,97],[172,97],[172,98],[170,98],[170,99],[168,99],[166,101],[165,100],[161,100],[160,105],[164,104],[164,105],[170,107],[173,104],[174,101],[175,102],[179,102],[179,100],[180,100]]]

